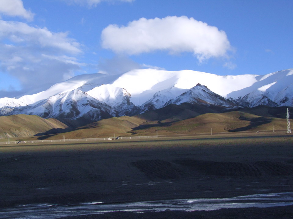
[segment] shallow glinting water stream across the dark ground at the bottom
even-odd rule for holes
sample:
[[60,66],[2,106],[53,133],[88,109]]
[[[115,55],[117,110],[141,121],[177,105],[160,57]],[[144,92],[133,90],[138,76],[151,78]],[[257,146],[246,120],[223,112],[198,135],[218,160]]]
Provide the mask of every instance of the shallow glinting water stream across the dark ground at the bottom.
[[222,208],[277,207],[293,205],[293,193],[270,193],[238,196],[233,198],[200,198],[143,201],[134,203],[89,202],[75,205],[30,204],[11,208],[0,208],[0,218],[5,219],[55,219],[85,214],[103,214],[114,211],[197,211]]

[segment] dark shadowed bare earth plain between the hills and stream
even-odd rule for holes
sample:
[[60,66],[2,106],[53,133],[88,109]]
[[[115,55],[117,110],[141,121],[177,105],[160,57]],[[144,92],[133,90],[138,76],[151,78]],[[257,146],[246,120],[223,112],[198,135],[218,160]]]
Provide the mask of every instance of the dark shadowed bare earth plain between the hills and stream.
[[[0,208],[293,192],[293,135],[0,147]],[[293,218],[292,206],[66,218]]]

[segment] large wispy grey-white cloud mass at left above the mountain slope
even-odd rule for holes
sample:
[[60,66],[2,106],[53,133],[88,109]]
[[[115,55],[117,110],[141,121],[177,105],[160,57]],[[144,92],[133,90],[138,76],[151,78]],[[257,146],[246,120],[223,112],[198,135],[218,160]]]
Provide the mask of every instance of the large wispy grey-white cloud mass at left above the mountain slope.
[[44,88],[74,76],[82,45],[68,33],[0,20],[0,70],[18,78],[22,91]]

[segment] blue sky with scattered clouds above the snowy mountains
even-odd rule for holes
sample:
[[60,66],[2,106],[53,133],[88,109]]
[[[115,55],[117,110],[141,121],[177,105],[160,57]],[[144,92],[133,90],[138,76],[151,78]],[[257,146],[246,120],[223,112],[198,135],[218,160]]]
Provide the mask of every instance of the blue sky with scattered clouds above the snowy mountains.
[[292,0],[0,0],[0,98],[137,68],[293,68]]

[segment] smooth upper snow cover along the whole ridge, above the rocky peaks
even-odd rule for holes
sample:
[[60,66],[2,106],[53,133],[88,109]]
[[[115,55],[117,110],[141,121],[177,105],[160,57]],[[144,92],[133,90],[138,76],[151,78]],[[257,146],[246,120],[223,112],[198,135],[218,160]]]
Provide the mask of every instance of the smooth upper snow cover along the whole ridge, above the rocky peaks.
[[[191,89],[198,83],[206,85],[211,91],[225,98],[237,99],[258,89],[261,91],[266,89],[274,98],[274,95],[293,81],[292,72],[293,69],[288,69],[267,75],[221,76],[191,70],[136,69],[122,75],[85,74],[57,83],[42,92],[22,96],[18,100],[26,105],[34,105],[50,96],[74,89],[93,93],[92,89],[102,86],[100,90],[106,91],[107,86],[103,85],[113,85],[116,88],[126,89],[132,95],[132,103],[140,106],[153,98],[157,92],[170,89],[170,87]],[[110,86],[108,88],[112,89]],[[110,95],[110,92],[108,93]],[[1,103],[3,104],[2,101]]]

